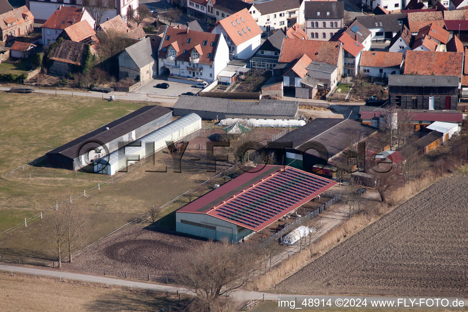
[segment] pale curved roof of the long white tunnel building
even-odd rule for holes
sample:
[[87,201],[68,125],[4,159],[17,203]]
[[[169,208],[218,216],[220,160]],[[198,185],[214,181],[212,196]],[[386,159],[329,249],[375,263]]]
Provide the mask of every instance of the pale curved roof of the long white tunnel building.
[[[111,152],[108,156],[104,156],[100,160],[106,161],[109,165],[116,163],[119,160],[124,159],[125,156],[133,155],[141,150],[146,148],[146,142],[159,142],[163,138],[167,138],[169,135],[175,133],[186,127],[191,123],[202,120],[200,116],[195,113],[187,114],[183,117],[180,117],[177,120],[174,120],[172,123],[168,123],[165,126],[162,126],[156,131],[148,133],[146,136],[139,138],[135,142],[140,142],[140,146],[124,146],[118,149],[117,151]],[[145,155],[148,156],[148,155]],[[97,160],[96,162],[98,162]]]

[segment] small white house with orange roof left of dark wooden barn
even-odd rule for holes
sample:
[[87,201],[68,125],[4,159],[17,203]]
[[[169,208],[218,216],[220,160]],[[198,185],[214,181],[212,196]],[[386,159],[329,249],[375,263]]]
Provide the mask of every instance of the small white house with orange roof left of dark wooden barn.
[[403,63],[403,53],[383,51],[362,51],[360,70],[367,76],[385,78],[399,75]]

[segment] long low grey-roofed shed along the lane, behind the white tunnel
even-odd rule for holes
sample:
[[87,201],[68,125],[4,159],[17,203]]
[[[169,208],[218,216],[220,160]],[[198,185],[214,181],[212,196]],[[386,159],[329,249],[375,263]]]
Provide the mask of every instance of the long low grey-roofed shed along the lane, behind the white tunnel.
[[195,113],[202,119],[266,118],[298,119],[298,101],[234,101],[207,96],[181,95],[173,107],[174,116]]

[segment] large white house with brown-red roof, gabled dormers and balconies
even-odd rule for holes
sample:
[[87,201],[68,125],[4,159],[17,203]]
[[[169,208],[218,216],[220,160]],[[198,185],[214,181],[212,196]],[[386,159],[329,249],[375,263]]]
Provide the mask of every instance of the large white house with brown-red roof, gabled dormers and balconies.
[[223,36],[168,26],[158,55],[160,74],[169,71],[174,77],[200,78],[210,82],[229,63],[229,48]]

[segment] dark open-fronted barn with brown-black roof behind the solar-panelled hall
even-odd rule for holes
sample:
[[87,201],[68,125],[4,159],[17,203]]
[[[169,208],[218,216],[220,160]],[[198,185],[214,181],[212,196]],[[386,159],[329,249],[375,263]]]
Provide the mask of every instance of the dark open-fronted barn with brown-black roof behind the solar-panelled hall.
[[[314,170],[314,165],[321,164],[316,169],[324,168],[330,160],[336,158],[344,150],[364,141],[377,133],[377,129],[351,119],[316,118],[285,136],[273,141],[280,145],[291,146],[284,150],[276,150],[278,159],[285,157],[285,164],[292,167]],[[322,174],[331,174],[322,170]]]

